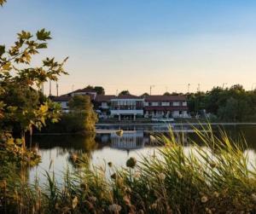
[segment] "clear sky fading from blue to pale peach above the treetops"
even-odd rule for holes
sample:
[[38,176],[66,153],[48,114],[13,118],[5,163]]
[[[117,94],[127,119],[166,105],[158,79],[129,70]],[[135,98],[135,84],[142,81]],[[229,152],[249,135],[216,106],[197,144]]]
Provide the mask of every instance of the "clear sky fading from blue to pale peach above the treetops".
[[33,63],[69,56],[59,94],[88,84],[113,95],[256,87],[254,0],[8,0],[0,20],[8,46],[21,30],[51,32]]

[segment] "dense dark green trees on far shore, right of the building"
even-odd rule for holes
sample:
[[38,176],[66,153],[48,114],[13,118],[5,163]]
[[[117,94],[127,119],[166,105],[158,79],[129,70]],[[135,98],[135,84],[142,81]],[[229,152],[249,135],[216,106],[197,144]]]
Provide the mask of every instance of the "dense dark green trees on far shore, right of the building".
[[192,116],[211,121],[256,121],[256,90],[244,90],[240,84],[188,94],[188,105]]

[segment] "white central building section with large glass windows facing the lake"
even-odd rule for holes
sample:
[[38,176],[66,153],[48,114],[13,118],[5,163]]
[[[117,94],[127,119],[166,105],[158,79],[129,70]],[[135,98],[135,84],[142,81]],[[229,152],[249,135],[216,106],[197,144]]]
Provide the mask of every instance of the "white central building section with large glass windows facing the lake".
[[111,100],[112,118],[133,119],[143,117],[143,97],[137,95],[118,95]]

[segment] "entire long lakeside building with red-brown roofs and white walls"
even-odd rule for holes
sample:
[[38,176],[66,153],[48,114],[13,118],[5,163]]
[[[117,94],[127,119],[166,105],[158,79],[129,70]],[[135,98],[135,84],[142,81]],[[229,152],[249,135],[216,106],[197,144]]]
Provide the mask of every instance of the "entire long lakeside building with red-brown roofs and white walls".
[[74,95],[89,95],[100,119],[189,118],[185,95],[96,95],[95,90],[85,88],[51,99],[60,103],[63,111],[68,113],[68,101]]

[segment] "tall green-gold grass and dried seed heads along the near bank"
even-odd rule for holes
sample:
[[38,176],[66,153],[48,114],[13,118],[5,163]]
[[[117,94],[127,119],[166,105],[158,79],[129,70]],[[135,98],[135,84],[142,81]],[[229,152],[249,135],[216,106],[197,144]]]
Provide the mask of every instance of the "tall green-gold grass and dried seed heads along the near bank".
[[[203,127],[202,127],[203,128]],[[64,180],[28,185],[9,175],[1,181],[0,211],[4,213],[256,213],[256,169],[249,163],[246,142],[232,141],[225,132],[196,128],[202,145],[170,130],[157,136],[165,147],[120,170],[111,163],[90,170],[86,156]],[[106,176],[107,172],[111,177]]]

